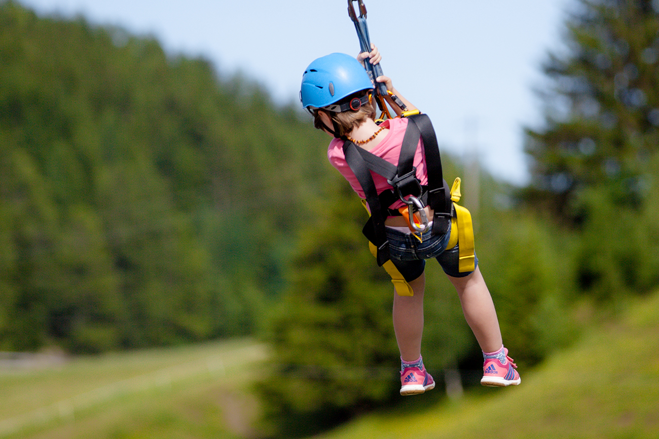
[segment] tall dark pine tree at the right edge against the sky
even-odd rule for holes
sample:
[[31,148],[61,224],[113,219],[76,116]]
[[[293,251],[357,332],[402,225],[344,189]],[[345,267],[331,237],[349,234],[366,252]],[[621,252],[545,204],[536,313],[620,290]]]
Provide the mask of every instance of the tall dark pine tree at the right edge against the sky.
[[527,130],[525,197],[581,233],[584,290],[644,290],[659,280],[659,1],[579,0],[566,30],[544,66],[545,126]]

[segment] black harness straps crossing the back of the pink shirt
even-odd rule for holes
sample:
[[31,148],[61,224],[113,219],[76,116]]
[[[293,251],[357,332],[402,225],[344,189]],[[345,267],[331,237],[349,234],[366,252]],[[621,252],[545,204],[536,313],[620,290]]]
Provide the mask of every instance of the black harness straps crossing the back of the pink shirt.
[[[380,267],[389,260],[389,242],[384,221],[390,215],[401,215],[396,209],[389,209],[393,203],[401,200],[408,205],[411,227],[420,233],[428,230],[428,221],[424,218],[426,205],[434,210],[433,234],[445,234],[453,215],[453,203],[442,174],[442,159],[432,122],[427,115],[411,115],[407,118],[409,122],[403,136],[398,165],[357,147],[349,140],[343,143],[345,160],[364,190],[371,213],[362,232],[376,246],[376,259]],[[419,139],[424,145],[428,171],[427,186],[420,184],[414,167]],[[384,176],[393,189],[378,195],[370,171]],[[415,224],[413,220],[413,215],[417,212],[421,214],[420,224]]]

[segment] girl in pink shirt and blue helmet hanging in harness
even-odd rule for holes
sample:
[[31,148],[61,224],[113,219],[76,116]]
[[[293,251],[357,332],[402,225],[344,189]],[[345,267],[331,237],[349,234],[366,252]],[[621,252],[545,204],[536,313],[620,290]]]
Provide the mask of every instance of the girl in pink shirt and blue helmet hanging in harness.
[[[360,53],[357,59],[343,53],[332,53],[316,59],[306,68],[300,91],[302,107],[313,115],[314,126],[333,136],[328,148],[330,163],[341,172],[362,199],[366,198],[366,192],[346,161],[344,143],[352,142],[357,147],[397,165],[403,137],[408,124],[411,123],[405,117],[387,119],[379,125],[376,123],[376,112],[372,104],[374,84],[361,64],[367,59],[371,64],[380,62],[381,56],[374,45],[370,53]],[[395,90],[390,78],[379,76],[376,81],[386,84],[387,90],[397,95],[407,105],[408,110],[416,109]],[[402,115],[401,109],[393,104],[389,97],[387,102],[398,116]],[[428,184],[422,140],[416,145],[414,167],[416,179],[420,184]],[[372,173],[372,178],[378,194],[393,189],[387,178],[375,173]],[[395,213],[395,209],[401,206],[405,206],[404,201],[397,200],[384,208]],[[432,225],[435,217],[433,209],[425,205],[422,210],[428,224]],[[388,216],[384,224],[391,262],[405,278],[405,284],[411,288],[411,294],[402,296],[399,291],[393,298],[393,327],[401,353],[401,395],[422,394],[435,386],[421,357],[424,268],[425,260],[431,258],[437,259],[449,281],[455,286],[465,319],[483,351],[484,374],[481,384],[519,384],[521,379],[515,371],[517,366],[507,356],[508,351],[503,347],[494,303],[478,269],[475,254],[473,270],[460,271],[459,244],[446,249],[450,225],[449,230],[442,234],[434,233],[432,226],[428,226],[423,228],[417,237],[401,215]]]

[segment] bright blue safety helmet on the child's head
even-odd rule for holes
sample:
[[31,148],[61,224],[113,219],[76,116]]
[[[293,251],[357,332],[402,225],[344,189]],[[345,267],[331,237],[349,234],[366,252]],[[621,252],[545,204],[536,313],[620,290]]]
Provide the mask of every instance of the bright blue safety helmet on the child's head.
[[[302,107],[328,107],[360,90],[373,88],[368,73],[357,59],[345,53],[331,53],[313,61],[302,74]],[[347,109],[347,108],[346,108]],[[332,107],[331,111],[343,108]]]

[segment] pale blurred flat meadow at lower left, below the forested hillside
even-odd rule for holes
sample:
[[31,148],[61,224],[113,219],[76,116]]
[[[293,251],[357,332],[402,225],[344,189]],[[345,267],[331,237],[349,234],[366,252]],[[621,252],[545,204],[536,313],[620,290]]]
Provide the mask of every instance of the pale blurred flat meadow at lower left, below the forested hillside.
[[264,355],[264,346],[234,340],[0,369],[0,438],[248,434],[239,386],[250,376],[241,371],[235,380],[233,364]]

